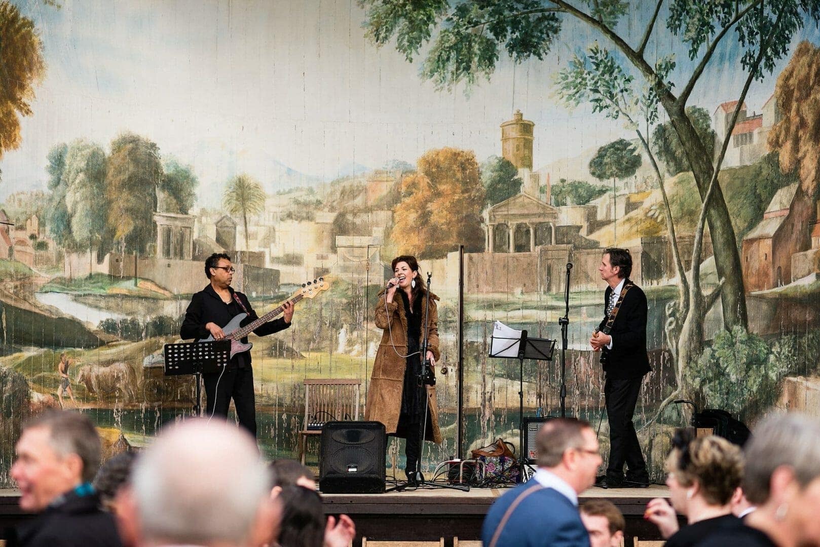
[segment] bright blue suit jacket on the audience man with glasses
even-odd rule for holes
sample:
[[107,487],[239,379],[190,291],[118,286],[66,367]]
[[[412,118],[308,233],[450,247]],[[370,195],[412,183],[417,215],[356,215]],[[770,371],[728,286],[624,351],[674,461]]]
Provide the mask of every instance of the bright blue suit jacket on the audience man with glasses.
[[[495,500],[484,519],[481,540],[490,545],[504,513],[535,481],[518,485]],[[495,547],[589,547],[590,536],[586,532],[578,508],[558,490],[541,488],[512,510]]]

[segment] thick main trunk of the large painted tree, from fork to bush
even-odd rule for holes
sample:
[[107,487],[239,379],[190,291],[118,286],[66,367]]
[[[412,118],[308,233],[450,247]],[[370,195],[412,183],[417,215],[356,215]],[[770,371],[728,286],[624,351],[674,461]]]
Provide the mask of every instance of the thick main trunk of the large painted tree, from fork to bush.
[[[667,107],[672,126],[686,150],[686,157],[689,159],[692,173],[695,175],[695,183],[698,185],[700,198],[703,199],[714,173],[713,158],[702,146],[698,134],[695,132],[695,127],[686,117],[683,109],[673,107],[673,105],[667,106],[665,101],[664,106]],[[712,198],[709,199],[706,221],[709,226],[709,234],[712,236],[717,277],[725,280],[721,298],[723,326],[727,330],[731,330],[731,327],[736,325],[746,328],[748,315],[746,312],[743,273],[740,266],[740,251],[737,247],[735,229],[731,226],[729,208],[726,199],[723,198],[720,185],[715,185]],[[690,305],[694,306],[695,303],[690,303]],[[690,316],[692,315],[690,313]],[[702,331],[702,327],[699,328]]]

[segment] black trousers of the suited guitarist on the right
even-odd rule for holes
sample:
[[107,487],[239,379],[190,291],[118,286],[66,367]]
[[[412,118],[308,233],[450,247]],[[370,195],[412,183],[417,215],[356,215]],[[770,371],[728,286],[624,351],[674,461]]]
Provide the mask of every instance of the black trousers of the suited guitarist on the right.
[[632,423],[635,404],[638,403],[642,378],[613,380],[607,378],[604,384],[604,398],[609,419],[609,465],[607,477],[613,481],[624,478],[623,466],[626,463],[626,480],[649,482],[644,455],[640,453],[638,435]]

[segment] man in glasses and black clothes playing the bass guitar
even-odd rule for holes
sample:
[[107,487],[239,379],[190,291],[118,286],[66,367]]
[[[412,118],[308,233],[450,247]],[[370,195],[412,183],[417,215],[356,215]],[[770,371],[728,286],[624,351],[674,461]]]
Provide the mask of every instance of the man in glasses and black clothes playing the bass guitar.
[[[205,275],[211,282],[191,299],[180,328],[180,338],[204,340],[212,336],[214,340],[222,340],[226,336],[222,327],[227,326],[233,317],[247,313],[248,318],[244,322],[257,319],[248,297],[230,287],[234,271],[230,257],[225,253],[214,253],[207,258]],[[282,308],[283,317],[258,326],[253,334],[271,335],[288,328],[294,317],[294,304],[286,302]],[[247,337],[240,341],[248,343]],[[234,399],[239,426],[246,428],[255,437],[256,401],[253,394],[251,353],[236,353],[228,367],[223,367],[220,372],[204,373],[203,383],[207,416],[227,417],[230,399]]]

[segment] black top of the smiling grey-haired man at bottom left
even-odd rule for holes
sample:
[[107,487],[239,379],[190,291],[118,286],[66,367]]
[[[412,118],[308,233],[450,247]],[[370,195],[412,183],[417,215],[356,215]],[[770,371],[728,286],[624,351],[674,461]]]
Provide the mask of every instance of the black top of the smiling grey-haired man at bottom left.
[[111,513],[100,508],[97,494],[74,491],[17,529],[11,545],[21,547],[121,547]]

